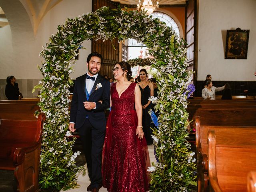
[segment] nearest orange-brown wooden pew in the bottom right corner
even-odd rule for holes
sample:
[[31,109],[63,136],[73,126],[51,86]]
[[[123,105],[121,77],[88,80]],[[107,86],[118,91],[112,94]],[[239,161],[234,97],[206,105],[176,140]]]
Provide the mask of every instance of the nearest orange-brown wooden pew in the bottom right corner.
[[[229,130],[225,136],[236,142],[226,142],[214,130],[208,132],[208,168],[210,186],[214,192],[246,192],[247,174],[256,170],[256,135],[244,137],[243,128]],[[240,140],[232,136],[238,136]],[[249,142],[248,142],[249,140]],[[223,144],[222,141],[225,143]],[[237,143],[237,141],[242,141]]]

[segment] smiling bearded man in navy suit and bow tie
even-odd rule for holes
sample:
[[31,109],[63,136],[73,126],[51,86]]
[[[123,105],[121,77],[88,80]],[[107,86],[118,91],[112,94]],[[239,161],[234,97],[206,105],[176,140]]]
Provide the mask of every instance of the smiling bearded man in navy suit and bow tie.
[[98,72],[102,55],[91,53],[87,58],[88,72],[76,78],[70,108],[69,130],[78,130],[86,157],[89,178],[87,191],[102,187],[102,147],[106,132],[104,109],[110,107],[110,82]]

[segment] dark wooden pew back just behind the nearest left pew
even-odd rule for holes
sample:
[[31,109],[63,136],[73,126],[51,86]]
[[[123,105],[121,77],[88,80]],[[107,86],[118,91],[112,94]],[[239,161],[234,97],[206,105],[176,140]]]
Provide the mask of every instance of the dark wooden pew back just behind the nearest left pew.
[[40,110],[35,104],[0,103],[0,119],[36,120],[34,113]]

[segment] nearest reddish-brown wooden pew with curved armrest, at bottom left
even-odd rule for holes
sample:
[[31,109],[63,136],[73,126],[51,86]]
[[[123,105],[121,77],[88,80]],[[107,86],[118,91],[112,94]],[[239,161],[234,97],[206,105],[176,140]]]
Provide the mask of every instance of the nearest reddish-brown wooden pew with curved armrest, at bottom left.
[[6,120],[0,124],[0,169],[14,170],[19,192],[39,192],[38,172],[45,115],[35,120]]

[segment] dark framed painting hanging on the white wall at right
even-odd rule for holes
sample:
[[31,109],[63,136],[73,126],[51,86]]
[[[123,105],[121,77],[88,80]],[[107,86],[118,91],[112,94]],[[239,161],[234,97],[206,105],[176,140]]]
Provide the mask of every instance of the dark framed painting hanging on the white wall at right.
[[227,30],[225,59],[247,59],[250,30]]

